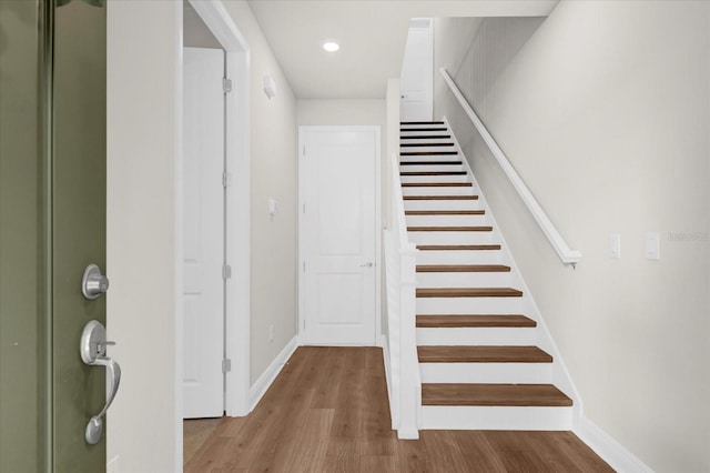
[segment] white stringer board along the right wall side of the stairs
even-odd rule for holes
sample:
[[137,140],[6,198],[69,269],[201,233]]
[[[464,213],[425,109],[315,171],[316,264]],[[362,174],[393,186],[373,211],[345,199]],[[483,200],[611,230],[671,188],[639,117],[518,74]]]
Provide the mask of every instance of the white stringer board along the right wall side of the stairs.
[[525,283],[523,273],[518,269],[513,258],[513,254],[510,253],[510,246],[508,245],[505,236],[500,232],[500,227],[498,225],[498,222],[494,217],[494,212],[490,209],[490,205],[488,205],[486,195],[483,189],[480,189],[478,184],[476,175],[474,174],[473,169],[470,168],[470,163],[466,158],[464,150],[459,145],[456,134],[454,133],[448,122],[448,119],[446,117],[443,117],[442,121],[444,121],[446,128],[448,129],[448,132],[452,135],[452,140],[455,143],[454,148],[458,151],[459,155],[462,157],[463,167],[468,172],[468,175],[470,177],[470,180],[474,184],[474,189],[477,190],[480,208],[486,210],[486,218],[488,220],[488,224],[493,225],[493,239],[498,241],[501,245],[500,251],[503,253],[501,253],[500,262],[501,264],[506,264],[510,266],[510,273],[513,276],[511,283],[517,284],[517,289],[523,291],[521,306],[523,306],[524,313],[528,318],[537,322],[537,328],[535,329],[537,345],[542,350],[545,350],[546,352],[548,352],[550,355],[552,355],[554,363],[552,363],[551,382],[572,400],[572,406],[569,407],[569,410],[571,411],[572,430],[577,430],[579,427],[579,422],[584,413],[582,400],[579,395],[579,391],[577,390],[577,386],[575,385],[575,382],[572,381],[569,374],[569,371],[567,370],[567,365],[565,364],[565,361],[562,360],[562,356],[559,350],[557,349],[557,345],[552,340],[552,336],[549,330],[547,329],[545,319],[542,318],[540,310],[535,303],[535,299],[532,298],[528,285]]

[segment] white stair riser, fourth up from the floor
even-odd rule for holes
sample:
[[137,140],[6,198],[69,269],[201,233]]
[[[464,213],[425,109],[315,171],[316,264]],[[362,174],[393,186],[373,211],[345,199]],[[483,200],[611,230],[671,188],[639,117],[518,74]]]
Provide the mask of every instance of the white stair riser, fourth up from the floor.
[[417,314],[517,314],[523,298],[417,298]]

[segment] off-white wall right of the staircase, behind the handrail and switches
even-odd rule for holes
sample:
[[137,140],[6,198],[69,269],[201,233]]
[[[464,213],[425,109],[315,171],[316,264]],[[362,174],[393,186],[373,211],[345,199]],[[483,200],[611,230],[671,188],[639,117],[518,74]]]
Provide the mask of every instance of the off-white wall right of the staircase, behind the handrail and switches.
[[[437,60],[582,252],[576,271],[559,262],[438,93],[585,415],[653,470],[709,471],[710,3],[570,1],[544,22],[436,29]],[[660,261],[645,259],[647,231],[661,233]]]

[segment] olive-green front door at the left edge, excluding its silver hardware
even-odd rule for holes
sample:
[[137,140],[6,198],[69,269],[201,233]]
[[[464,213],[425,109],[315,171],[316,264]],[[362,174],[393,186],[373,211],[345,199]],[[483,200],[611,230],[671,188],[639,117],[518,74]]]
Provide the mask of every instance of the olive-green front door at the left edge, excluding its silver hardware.
[[[105,471],[105,373],[79,354],[105,298],[105,8],[0,0],[0,471]],[[110,355],[110,352],[109,352]]]

